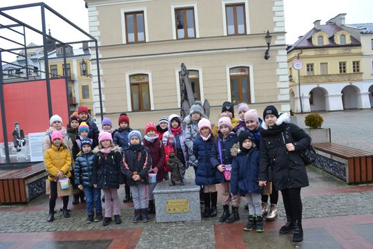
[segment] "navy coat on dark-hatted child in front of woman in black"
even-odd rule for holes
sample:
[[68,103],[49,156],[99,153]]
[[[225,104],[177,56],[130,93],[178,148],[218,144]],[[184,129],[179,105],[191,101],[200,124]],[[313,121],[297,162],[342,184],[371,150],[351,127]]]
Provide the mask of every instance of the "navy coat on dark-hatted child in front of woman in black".
[[233,163],[231,172],[231,193],[245,196],[248,193],[262,194],[262,188],[259,187],[258,174],[260,152],[256,147],[245,154],[239,151],[239,145],[236,144],[232,149]]

